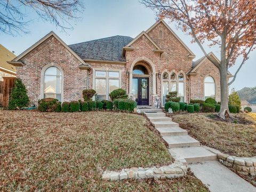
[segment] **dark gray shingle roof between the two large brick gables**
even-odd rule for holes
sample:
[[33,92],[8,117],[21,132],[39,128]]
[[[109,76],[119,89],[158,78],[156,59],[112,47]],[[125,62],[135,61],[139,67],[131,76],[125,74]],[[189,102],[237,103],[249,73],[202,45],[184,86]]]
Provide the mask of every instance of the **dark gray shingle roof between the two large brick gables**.
[[132,39],[132,37],[117,35],[68,46],[83,60],[125,61],[122,54],[123,47]]

